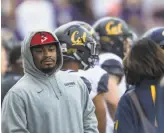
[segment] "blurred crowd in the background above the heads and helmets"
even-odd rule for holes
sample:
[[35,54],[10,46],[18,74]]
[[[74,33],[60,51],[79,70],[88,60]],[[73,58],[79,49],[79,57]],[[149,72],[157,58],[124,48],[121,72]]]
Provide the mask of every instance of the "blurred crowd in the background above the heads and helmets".
[[[104,16],[120,17],[141,36],[152,27],[164,26],[164,1],[2,0],[1,14],[2,44],[7,47],[9,53],[9,49],[13,45],[19,45],[30,31],[53,31],[58,26],[74,20],[92,25]],[[4,66],[9,63],[2,60]],[[2,67],[2,73],[5,69]]]

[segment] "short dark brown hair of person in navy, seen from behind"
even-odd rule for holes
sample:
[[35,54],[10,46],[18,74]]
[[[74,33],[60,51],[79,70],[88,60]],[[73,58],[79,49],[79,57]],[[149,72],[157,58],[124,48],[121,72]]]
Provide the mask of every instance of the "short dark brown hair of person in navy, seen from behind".
[[124,59],[128,84],[136,85],[144,79],[160,79],[164,74],[164,52],[152,40],[138,40]]

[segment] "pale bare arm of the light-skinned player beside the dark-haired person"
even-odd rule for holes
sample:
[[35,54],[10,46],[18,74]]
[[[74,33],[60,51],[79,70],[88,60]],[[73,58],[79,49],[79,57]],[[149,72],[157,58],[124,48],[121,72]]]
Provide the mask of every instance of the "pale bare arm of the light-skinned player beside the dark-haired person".
[[107,105],[109,107],[109,113],[113,120],[115,117],[118,102],[120,100],[118,83],[119,77],[114,75],[110,76],[108,79],[109,91],[107,93],[104,93],[104,98],[107,102]]

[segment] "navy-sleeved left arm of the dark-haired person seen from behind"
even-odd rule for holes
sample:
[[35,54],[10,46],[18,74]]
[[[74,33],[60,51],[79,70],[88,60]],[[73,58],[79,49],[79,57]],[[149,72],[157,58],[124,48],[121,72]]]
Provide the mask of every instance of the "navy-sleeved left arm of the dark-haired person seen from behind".
[[135,118],[132,113],[130,99],[127,95],[123,95],[116,111],[114,133],[136,133]]

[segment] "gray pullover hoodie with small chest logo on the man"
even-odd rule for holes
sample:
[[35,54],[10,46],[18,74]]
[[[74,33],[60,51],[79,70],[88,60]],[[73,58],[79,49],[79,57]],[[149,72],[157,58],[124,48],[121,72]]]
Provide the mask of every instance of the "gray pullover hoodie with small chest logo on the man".
[[2,105],[2,133],[98,133],[95,108],[80,78],[59,71],[39,71],[30,52],[29,34],[22,44],[25,75],[10,89]]

